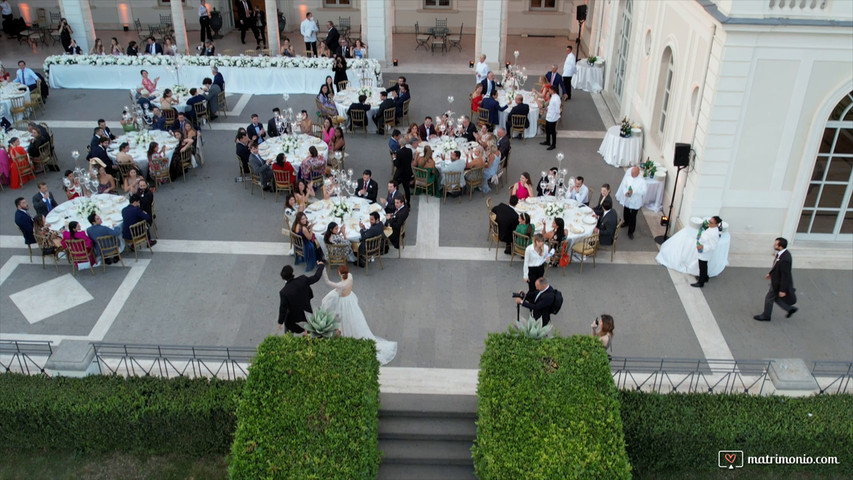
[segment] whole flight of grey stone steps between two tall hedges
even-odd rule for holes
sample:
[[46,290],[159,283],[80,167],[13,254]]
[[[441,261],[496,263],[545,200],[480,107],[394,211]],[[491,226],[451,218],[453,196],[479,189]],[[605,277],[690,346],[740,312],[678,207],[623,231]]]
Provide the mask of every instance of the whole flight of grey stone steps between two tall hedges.
[[473,395],[380,394],[379,480],[475,480]]

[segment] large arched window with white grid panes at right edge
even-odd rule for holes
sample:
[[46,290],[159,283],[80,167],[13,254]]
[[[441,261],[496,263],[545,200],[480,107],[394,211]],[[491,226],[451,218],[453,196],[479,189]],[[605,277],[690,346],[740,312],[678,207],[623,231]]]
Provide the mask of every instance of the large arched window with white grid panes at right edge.
[[838,102],[826,121],[797,237],[853,237],[853,92]]

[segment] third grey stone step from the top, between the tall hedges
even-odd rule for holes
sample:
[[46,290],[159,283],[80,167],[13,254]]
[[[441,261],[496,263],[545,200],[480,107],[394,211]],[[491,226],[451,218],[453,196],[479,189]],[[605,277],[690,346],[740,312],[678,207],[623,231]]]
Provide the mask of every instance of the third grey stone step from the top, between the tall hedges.
[[472,465],[471,440],[379,439],[383,464]]

